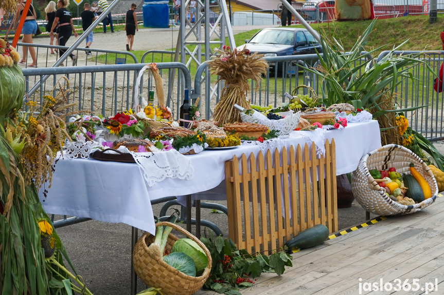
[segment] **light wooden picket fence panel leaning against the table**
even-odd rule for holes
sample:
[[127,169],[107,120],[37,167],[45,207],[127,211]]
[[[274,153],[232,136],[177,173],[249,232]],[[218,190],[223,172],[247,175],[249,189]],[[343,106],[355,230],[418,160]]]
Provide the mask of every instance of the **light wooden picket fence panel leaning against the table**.
[[320,158],[314,144],[242,154],[241,171],[236,156],[225,162],[229,237],[239,249],[271,253],[316,224],[338,231],[334,140],[325,149]]

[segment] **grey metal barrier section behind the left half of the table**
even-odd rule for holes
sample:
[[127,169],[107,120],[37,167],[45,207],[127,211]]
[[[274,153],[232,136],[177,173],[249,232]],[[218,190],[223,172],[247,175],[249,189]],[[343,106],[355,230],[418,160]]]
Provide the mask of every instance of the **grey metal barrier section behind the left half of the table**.
[[[26,78],[26,91],[29,91],[34,85],[32,81],[41,80],[43,76],[50,75],[45,83],[39,85],[39,90],[28,97],[29,100],[42,102],[43,95],[55,94],[60,86],[66,85],[66,80],[62,78],[66,77],[69,81],[69,89],[71,89],[67,99],[69,103],[77,105],[75,109],[70,111],[84,110],[110,116],[132,107],[136,77],[144,66],[145,64],[122,64],[28,68],[23,70],[23,74]],[[177,119],[183,89],[191,89],[191,76],[185,65],[181,63],[159,63],[157,68],[168,70],[169,73],[175,69],[179,75],[179,78],[175,79],[181,83],[178,83],[177,88],[168,91],[166,97],[166,104],[176,114]],[[141,78],[139,91],[139,95],[145,97],[145,100],[147,100],[148,91],[154,90],[154,83],[151,83],[152,78],[148,79],[148,87],[146,85],[144,87],[146,80],[146,76]],[[157,97],[155,96],[156,101]],[[138,102],[141,104],[141,97]]]

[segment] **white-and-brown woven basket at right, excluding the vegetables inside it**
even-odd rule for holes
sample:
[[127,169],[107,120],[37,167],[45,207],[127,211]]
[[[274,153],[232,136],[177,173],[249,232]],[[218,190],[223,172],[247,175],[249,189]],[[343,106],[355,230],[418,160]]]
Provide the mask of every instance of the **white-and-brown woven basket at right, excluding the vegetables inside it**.
[[[401,205],[385,194],[370,175],[369,170],[387,170],[395,167],[397,172],[410,174],[410,163],[430,185],[432,198],[415,205]],[[377,215],[400,215],[417,212],[430,206],[438,194],[438,186],[430,168],[416,154],[403,146],[390,144],[364,155],[359,162],[358,169],[351,176],[351,190],[359,204],[368,212]]]

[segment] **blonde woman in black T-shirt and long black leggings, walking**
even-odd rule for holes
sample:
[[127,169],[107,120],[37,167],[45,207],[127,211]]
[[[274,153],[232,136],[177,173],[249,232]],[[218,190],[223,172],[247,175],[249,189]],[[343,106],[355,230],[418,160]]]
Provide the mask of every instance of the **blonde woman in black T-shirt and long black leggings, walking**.
[[[52,24],[51,31],[49,35],[54,34],[54,29],[59,27],[59,45],[65,46],[66,42],[69,40],[69,37],[73,34],[77,38],[78,34],[73,25],[73,18],[71,13],[66,9],[69,5],[69,0],[58,0],[57,7],[59,9],[56,10],[56,17],[54,18],[54,23]],[[60,57],[66,52],[65,49],[60,49]],[[77,55],[73,53],[69,54],[71,60],[73,61],[73,66],[76,65]],[[63,65],[63,64],[62,64]]]

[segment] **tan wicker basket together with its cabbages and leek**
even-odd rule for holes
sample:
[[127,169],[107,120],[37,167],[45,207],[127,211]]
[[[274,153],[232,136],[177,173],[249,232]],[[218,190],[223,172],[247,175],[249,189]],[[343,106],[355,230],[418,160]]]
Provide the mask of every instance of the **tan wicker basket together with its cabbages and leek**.
[[[184,234],[178,239],[171,230]],[[137,276],[148,286],[170,295],[193,294],[205,284],[211,271],[207,247],[179,225],[156,223],[156,235],[143,235],[133,251]]]

